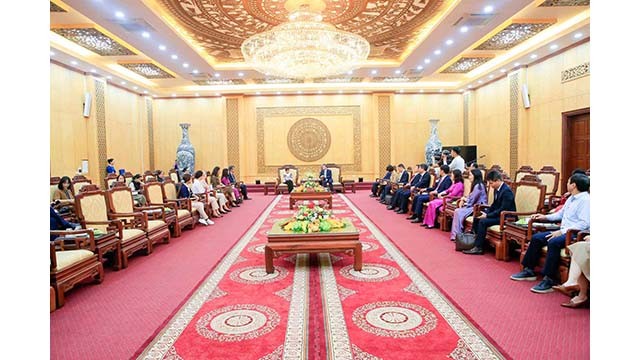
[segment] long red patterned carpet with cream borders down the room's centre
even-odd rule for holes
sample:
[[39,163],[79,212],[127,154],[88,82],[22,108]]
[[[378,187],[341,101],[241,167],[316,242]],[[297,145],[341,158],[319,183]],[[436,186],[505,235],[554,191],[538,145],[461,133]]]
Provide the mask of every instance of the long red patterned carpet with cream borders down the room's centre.
[[496,359],[502,355],[341,196],[360,231],[363,271],[345,254],[285,255],[264,271],[282,197],[223,258],[143,359]]

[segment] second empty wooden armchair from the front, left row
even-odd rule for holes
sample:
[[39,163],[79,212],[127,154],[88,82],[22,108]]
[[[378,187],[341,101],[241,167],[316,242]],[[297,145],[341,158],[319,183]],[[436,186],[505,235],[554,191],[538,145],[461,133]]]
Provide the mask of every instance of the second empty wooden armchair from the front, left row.
[[[126,268],[129,264],[129,257],[138,250],[146,249],[146,253],[150,254],[153,249],[149,245],[147,234],[131,224],[135,224],[136,220],[129,221],[127,227],[123,225],[123,221],[118,216],[109,214],[109,206],[107,204],[107,195],[105,191],[85,191],[76,196],[76,204],[78,207],[78,218],[83,228],[94,228],[102,234],[100,237],[107,241],[115,233],[115,247],[101,247],[100,241],[96,246],[99,250],[98,256],[102,259],[104,253],[108,250],[114,250],[116,269]],[[138,217],[138,222],[141,221]],[[105,244],[106,246],[106,244]]]

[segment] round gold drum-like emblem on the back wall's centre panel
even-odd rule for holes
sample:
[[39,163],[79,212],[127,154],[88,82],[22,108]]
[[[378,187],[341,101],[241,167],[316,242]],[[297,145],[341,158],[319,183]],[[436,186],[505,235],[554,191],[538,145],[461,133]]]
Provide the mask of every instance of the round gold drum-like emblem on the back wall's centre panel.
[[321,159],[331,146],[331,133],[322,121],[304,118],[296,121],[287,135],[289,151],[297,159],[311,162]]

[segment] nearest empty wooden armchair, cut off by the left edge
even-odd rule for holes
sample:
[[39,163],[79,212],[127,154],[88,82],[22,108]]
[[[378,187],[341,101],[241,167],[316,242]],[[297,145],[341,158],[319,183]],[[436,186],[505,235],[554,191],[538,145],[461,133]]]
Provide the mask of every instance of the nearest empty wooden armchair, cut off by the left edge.
[[64,305],[64,293],[86,280],[101,283],[104,269],[98,256],[93,231],[51,231],[59,235],[49,246],[49,277],[57,307]]

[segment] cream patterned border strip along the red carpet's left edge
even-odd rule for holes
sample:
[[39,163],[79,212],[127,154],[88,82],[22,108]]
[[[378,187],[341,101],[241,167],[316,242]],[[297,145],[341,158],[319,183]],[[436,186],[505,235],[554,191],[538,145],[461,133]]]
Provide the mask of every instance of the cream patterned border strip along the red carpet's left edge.
[[209,298],[212,291],[218,286],[218,283],[224,275],[229,271],[231,266],[237,261],[242,250],[251,241],[253,236],[258,232],[258,229],[264,221],[267,219],[273,208],[278,204],[282,195],[278,195],[264,210],[258,220],[251,226],[251,228],[244,234],[244,236],[236,243],[236,245],[229,251],[229,253],[222,259],[218,266],[213,270],[211,275],[206,281],[200,285],[191,298],[184,304],[184,306],[176,313],[171,321],[165,326],[164,329],[151,341],[149,346],[138,356],[138,359],[145,360],[160,360],[171,351],[173,344],[176,342],[180,334],[189,325],[193,317],[198,310],[202,307],[205,301]]

